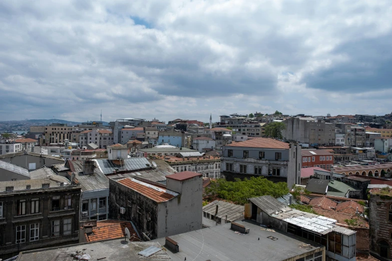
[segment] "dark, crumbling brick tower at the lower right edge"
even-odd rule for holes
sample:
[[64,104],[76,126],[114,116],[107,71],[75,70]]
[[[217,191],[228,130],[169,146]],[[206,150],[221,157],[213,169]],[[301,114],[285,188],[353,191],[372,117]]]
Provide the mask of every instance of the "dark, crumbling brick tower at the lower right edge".
[[369,194],[370,253],[392,260],[392,190],[381,185]]

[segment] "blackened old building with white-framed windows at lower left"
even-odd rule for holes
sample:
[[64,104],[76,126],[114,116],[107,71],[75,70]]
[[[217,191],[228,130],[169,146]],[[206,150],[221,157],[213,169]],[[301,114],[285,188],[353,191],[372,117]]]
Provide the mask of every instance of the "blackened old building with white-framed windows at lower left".
[[80,194],[50,178],[0,182],[0,257],[77,243]]

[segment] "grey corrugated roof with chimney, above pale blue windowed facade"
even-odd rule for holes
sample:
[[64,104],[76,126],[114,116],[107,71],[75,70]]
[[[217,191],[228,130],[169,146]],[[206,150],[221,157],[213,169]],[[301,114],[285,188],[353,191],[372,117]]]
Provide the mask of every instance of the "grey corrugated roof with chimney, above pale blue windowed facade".
[[94,174],[83,174],[83,160],[69,161],[72,172],[79,181],[82,191],[109,188],[109,178],[99,169],[97,162],[94,162]]

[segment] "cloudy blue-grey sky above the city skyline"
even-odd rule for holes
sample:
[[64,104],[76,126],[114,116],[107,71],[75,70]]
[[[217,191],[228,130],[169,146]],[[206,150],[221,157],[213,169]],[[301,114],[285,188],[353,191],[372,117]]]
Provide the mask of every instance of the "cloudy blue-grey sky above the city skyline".
[[0,120],[390,113],[390,0],[0,1]]

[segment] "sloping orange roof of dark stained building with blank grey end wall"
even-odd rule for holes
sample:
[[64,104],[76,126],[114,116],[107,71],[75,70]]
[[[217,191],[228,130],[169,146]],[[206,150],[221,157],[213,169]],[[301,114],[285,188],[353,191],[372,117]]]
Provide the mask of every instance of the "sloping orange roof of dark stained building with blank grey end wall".
[[[201,174],[200,174],[201,175]],[[168,176],[166,176],[168,177]],[[138,191],[139,193],[151,198],[152,200],[156,202],[165,202],[168,201],[175,196],[172,194],[169,194],[165,191],[165,189],[154,189],[150,186],[144,185],[144,182],[135,182],[132,180],[132,178],[126,177],[123,179],[118,180],[119,183],[135,190]],[[153,186],[153,185],[151,185]],[[153,186],[155,187],[155,186]],[[158,187],[157,187],[158,188]]]

